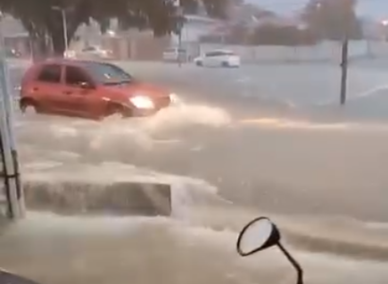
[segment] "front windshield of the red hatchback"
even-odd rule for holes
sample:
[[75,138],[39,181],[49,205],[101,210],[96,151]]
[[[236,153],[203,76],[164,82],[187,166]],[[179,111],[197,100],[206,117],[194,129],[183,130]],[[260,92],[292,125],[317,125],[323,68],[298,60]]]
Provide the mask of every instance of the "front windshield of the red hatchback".
[[110,63],[85,62],[82,64],[82,67],[100,84],[123,84],[133,80],[133,77],[123,69]]

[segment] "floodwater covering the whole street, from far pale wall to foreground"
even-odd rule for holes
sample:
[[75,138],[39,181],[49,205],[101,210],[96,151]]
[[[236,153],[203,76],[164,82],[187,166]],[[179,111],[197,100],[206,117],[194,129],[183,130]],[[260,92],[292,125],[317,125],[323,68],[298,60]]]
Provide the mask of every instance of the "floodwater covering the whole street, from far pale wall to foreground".
[[[0,240],[1,248],[9,248],[0,256],[3,266],[55,284],[128,277],[137,283],[291,283],[292,272],[276,253],[243,262],[233,252],[237,230],[260,212],[280,222],[291,243],[305,251],[298,256],[309,283],[345,284],[352,277],[355,284],[387,282],[386,263],[306,252],[387,259],[388,128],[382,114],[371,112],[376,105],[388,108],[379,91],[382,70],[351,72],[354,107],[344,113],[333,102],[335,67],[124,67],[171,87],[184,102],[155,117],[102,123],[18,116],[27,176],[44,176],[40,166],[55,162],[69,175],[82,176],[71,169],[84,165],[103,177],[109,172],[99,165],[111,162],[113,170],[128,165],[205,180],[218,187],[219,199],[233,204],[204,205],[194,196],[184,225],[162,218],[93,221],[33,213]],[[314,236],[320,241],[308,238]]]

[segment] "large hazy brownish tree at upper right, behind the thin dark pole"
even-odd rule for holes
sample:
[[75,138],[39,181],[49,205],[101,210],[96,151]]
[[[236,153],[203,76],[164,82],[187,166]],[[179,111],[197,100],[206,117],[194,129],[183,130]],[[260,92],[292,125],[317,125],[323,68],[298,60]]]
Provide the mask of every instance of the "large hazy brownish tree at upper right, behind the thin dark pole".
[[303,13],[309,27],[321,38],[342,40],[362,37],[356,0],[310,0]]

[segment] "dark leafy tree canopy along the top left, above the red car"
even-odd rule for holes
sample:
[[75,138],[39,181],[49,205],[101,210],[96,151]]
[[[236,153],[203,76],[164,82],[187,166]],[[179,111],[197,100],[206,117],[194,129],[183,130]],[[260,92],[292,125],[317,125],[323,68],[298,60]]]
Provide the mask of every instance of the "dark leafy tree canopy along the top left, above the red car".
[[[196,0],[181,0],[181,5],[193,5]],[[211,16],[222,17],[226,0],[202,0]],[[40,48],[47,51],[51,42],[56,55],[65,51],[64,26],[59,7],[65,11],[67,39],[70,42],[79,26],[91,20],[109,27],[109,19],[118,18],[126,27],[150,28],[155,35],[171,33],[179,17],[175,0],[0,0],[0,9],[19,19]],[[46,49],[46,50],[45,50]]]

